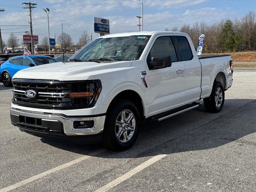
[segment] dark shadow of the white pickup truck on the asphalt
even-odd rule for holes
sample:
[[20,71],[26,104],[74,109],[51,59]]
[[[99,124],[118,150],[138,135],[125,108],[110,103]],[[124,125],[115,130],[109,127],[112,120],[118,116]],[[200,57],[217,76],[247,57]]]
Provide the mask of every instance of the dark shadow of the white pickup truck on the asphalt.
[[[238,105],[239,104],[239,105]],[[241,106],[241,107],[238,107]],[[256,100],[225,100],[220,113],[207,113],[203,105],[158,123],[146,122],[134,146],[123,152],[106,151],[102,158],[139,158],[157,154],[173,154],[192,150],[207,150],[239,140],[256,132]],[[79,154],[99,145],[70,144],[41,139],[51,146]]]

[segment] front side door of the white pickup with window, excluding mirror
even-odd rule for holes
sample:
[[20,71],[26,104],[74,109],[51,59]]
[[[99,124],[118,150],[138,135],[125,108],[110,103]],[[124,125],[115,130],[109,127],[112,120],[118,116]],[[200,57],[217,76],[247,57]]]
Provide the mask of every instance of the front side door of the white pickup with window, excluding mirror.
[[153,42],[147,53],[147,62],[150,57],[171,56],[172,66],[152,70],[148,68],[150,116],[180,106],[184,102],[185,88],[184,63],[178,61],[171,35],[158,35]]

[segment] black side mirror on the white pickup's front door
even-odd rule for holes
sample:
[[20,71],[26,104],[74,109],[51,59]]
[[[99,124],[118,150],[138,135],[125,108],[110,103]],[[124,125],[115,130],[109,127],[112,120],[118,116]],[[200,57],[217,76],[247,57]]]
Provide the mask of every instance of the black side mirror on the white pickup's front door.
[[151,60],[147,61],[148,68],[152,69],[162,69],[172,66],[171,56],[168,57],[152,57]]

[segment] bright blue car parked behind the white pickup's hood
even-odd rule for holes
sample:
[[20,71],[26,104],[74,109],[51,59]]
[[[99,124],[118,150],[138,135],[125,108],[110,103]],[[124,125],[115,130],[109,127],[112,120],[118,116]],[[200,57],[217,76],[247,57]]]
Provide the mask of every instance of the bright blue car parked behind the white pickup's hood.
[[6,87],[12,86],[12,77],[16,72],[29,67],[55,63],[56,59],[43,55],[25,55],[12,57],[0,66],[1,80]]

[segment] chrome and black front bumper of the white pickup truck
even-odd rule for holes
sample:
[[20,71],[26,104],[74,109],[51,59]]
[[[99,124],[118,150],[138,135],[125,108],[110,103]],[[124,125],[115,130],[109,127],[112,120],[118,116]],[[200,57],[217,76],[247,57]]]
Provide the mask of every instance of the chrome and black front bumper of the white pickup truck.
[[[42,134],[59,134],[62,136],[86,136],[103,132],[106,115],[98,116],[66,116],[64,114],[50,114],[10,109],[11,122],[14,126],[26,132]],[[75,121],[94,121],[92,127],[74,128]]]

